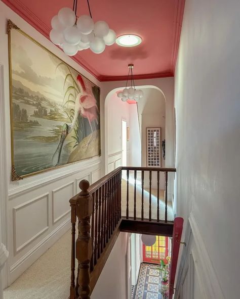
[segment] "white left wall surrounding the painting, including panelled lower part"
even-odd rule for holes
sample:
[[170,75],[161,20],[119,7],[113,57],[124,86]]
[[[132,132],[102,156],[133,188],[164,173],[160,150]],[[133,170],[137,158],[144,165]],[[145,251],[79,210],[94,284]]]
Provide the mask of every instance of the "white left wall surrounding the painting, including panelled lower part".
[[[87,178],[90,182],[99,179],[101,176],[102,162],[101,158],[96,157],[71,166],[24,178],[22,181],[11,182],[7,19],[11,19],[27,34],[41,42],[44,46],[49,48],[50,51],[69,63],[95,84],[100,85],[93,76],[79,67],[79,65],[70,57],[66,56],[57,46],[52,44],[47,38],[43,37],[0,2],[0,66],[3,66],[0,81],[3,80],[4,83],[3,86],[0,85],[0,92],[4,94],[4,101],[1,102],[1,127],[6,133],[6,138],[1,135],[1,138],[4,138],[1,139],[1,150],[2,153],[5,153],[3,169],[6,169],[4,173],[5,180],[1,183],[1,188],[6,188],[4,201],[1,202],[1,209],[4,203],[4,215],[9,216],[7,221],[4,221],[3,217],[1,220],[2,225],[4,225],[3,242],[10,252],[9,262],[4,272],[5,286],[13,282],[32,262],[39,258],[57,238],[70,228],[69,198],[77,192],[77,184],[82,178]],[[104,105],[101,104],[101,107],[104,107]],[[102,114],[103,112],[101,110],[101,116]],[[104,144],[104,142],[102,144]],[[6,227],[6,224],[8,224],[8,227]],[[8,232],[8,234],[6,232]]]

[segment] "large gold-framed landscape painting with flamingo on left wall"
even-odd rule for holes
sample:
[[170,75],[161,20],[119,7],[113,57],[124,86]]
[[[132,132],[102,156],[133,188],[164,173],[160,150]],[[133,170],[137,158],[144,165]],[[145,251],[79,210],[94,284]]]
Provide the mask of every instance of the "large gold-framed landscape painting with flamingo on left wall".
[[98,156],[100,89],[10,20],[12,180]]

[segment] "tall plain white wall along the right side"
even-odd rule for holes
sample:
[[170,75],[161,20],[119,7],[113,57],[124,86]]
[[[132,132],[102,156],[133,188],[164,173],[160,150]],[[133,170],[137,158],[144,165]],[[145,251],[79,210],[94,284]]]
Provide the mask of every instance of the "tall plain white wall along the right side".
[[191,212],[218,299],[239,297],[239,12],[238,0],[186,0],[175,75],[177,214],[184,238]]

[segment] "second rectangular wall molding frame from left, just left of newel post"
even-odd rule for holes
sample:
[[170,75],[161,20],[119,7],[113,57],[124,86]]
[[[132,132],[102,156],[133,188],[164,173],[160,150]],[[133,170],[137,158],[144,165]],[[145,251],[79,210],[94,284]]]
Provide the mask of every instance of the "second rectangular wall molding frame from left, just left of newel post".
[[[59,193],[61,190],[66,189],[68,186],[72,187],[71,188],[71,194],[67,195],[68,196],[67,198],[65,196],[63,196],[63,200],[64,201],[66,200],[66,204],[67,204],[67,206],[69,208],[67,209],[67,211],[63,212],[61,215],[59,215],[58,217],[55,218],[55,203],[58,204],[58,205],[61,204],[61,203],[59,203],[58,198],[56,198],[57,202],[55,202],[55,194]],[[69,183],[67,183],[67,184],[65,184],[65,185],[63,185],[63,186],[61,186],[59,188],[56,188],[56,189],[52,190],[52,215],[53,215],[53,224],[55,224],[60,219],[62,219],[64,216],[66,216],[68,213],[70,213],[71,208],[70,208],[69,200],[73,196],[74,196],[74,181],[71,181],[71,182],[69,182]]]

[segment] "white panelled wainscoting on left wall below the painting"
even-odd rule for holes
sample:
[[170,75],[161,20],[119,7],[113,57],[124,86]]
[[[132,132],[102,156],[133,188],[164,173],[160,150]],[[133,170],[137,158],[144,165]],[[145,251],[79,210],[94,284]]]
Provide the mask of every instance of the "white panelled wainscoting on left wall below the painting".
[[8,285],[70,229],[69,200],[82,179],[91,184],[101,177],[100,159],[63,167],[54,175],[47,172],[34,181],[24,178],[9,189]]

